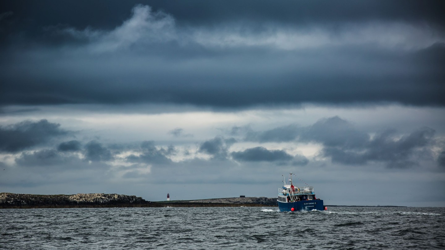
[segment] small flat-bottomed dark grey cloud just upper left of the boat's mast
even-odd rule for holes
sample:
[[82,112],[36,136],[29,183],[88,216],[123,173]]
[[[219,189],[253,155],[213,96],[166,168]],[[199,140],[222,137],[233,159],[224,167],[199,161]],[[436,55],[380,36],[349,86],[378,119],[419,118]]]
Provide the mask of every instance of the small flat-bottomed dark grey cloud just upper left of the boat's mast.
[[284,150],[268,150],[264,147],[232,152],[231,156],[237,161],[290,161],[293,158]]

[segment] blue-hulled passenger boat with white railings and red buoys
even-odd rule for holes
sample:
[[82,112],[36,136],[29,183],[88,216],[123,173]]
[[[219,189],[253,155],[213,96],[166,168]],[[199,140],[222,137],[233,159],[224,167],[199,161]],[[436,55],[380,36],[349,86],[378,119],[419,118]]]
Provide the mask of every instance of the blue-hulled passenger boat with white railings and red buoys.
[[280,212],[327,210],[323,205],[323,200],[317,199],[314,187],[297,187],[292,183],[293,173],[289,173],[289,178],[284,179],[283,188],[278,189],[278,207]]

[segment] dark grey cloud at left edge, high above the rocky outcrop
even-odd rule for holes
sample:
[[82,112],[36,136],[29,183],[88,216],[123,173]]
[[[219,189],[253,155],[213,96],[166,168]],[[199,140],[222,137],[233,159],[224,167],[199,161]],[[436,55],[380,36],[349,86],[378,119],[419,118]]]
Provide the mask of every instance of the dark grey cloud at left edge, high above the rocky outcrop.
[[72,132],[61,129],[60,124],[47,120],[22,121],[0,126],[0,151],[15,153],[70,133]]

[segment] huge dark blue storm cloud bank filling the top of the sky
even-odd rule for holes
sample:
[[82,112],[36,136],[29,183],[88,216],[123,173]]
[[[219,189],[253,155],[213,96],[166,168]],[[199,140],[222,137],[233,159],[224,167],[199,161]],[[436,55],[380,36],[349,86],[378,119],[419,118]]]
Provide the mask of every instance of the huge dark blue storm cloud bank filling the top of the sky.
[[3,4],[0,105],[445,105],[441,1]]

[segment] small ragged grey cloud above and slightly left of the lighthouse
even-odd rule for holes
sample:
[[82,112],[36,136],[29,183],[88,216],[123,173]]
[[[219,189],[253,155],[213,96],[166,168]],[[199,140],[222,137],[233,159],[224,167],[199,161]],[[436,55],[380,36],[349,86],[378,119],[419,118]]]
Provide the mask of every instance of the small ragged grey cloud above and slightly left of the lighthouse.
[[126,157],[129,162],[149,163],[149,164],[171,164],[173,161],[168,156],[174,155],[176,149],[174,146],[169,146],[167,149],[158,149],[154,145],[154,141],[143,141],[140,150],[142,154],[136,156],[134,154]]

